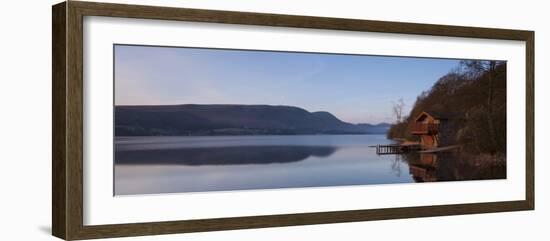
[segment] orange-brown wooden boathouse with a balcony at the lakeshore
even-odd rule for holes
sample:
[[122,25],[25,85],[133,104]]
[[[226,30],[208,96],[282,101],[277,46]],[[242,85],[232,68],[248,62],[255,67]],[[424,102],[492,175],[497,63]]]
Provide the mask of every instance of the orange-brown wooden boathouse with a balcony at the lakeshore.
[[411,134],[420,137],[422,149],[433,149],[447,145],[445,128],[448,127],[449,116],[444,113],[420,113],[411,126]]

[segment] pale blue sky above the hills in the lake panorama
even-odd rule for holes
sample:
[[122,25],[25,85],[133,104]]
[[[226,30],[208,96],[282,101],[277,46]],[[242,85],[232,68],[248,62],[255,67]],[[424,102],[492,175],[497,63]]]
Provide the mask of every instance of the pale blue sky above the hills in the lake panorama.
[[459,60],[115,45],[115,105],[268,104],[392,122]]

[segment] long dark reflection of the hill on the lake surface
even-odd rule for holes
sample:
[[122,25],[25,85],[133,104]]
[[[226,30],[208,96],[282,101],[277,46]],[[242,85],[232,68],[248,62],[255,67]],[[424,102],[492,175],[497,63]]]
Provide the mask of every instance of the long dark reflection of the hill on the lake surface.
[[327,157],[330,146],[235,146],[116,151],[116,164],[236,165],[286,163]]

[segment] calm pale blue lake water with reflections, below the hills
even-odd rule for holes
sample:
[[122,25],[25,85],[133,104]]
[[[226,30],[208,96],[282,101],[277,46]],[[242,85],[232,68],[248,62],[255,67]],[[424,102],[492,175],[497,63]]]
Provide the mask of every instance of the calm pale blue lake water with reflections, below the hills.
[[465,179],[451,162],[448,172],[434,168],[433,154],[369,147],[387,143],[385,135],[116,137],[115,195]]

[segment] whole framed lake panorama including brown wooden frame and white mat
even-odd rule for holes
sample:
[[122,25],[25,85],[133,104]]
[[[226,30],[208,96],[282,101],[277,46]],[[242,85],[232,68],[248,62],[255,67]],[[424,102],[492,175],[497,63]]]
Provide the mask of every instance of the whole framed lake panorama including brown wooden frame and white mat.
[[53,6],[53,235],[534,209],[534,32]]

